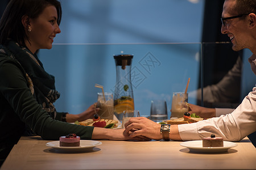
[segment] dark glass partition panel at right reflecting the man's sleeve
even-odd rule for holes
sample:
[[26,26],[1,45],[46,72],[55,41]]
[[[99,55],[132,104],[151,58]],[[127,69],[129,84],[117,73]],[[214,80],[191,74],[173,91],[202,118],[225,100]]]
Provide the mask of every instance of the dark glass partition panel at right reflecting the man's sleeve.
[[255,75],[247,61],[252,53],[247,49],[235,52],[232,46],[231,42],[203,42],[200,87],[204,88],[203,96],[197,91],[197,104],[236,108],[255,86]]

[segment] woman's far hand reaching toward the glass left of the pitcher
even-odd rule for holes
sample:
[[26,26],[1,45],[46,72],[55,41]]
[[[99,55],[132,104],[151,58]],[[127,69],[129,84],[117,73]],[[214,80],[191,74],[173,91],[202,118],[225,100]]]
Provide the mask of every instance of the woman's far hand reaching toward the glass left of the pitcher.
[[67,122],[75,122],[75,121],[84,121],[88,118],[93,118],[94,114],[96,114],[99,111],[100,108],[96,108],[96,103],[90,105],[86,111],[80,113],[80,114],[67,114],[66,115],[66,121]]

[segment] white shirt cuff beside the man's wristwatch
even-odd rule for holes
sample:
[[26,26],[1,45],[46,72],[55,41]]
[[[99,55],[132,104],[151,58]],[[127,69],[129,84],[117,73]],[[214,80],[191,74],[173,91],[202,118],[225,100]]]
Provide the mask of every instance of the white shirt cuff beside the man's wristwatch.
[[197,133],[197,123],[178,125],[182,141],[201,140]]

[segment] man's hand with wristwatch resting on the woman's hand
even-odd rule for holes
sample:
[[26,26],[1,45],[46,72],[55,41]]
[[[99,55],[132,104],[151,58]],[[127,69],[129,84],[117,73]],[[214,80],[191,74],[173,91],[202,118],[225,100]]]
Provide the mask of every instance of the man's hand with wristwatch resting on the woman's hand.
[[125,133],[131,138],[146,137],[150,139],[162,139],[160,133],[161,125],[149,120],[146,117],[132,117],[125,124]]

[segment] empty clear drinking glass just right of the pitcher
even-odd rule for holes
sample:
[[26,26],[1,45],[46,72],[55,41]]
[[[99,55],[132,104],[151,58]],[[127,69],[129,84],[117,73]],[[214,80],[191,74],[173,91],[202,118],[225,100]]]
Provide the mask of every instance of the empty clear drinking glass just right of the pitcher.
[[150,108],[150,119],[154,122],[167,120],[166,100],[152,100]]

